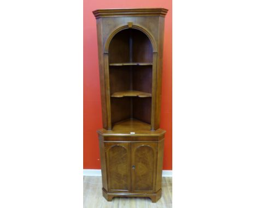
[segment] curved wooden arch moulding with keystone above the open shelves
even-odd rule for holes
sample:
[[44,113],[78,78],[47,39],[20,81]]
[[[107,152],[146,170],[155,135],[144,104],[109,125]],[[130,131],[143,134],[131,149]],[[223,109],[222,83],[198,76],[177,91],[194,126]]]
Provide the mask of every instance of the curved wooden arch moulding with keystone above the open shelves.
[[112,39],[114,38],[114,36],[116,34],[118,34],[119,32],[121,32],[121,30],[124,29],[137,29],[140,30],[141,32],[143,32],[144,34],[147,35],[148,39],[150,40],[152,47],[153,47],[153,52],[157,52],[157,47],[156,47],[156,41],[153,37],[153,35],[144,27],[139,26],[139,25],[133,25],[132,23],[128,23],[127,25],[123,25],[123,26],[119,26],[118,28],[114,29],[113,32],[109,35],[106,44],[105,44],[105,48],[104,48],[104,53],[108,53],[109,51],[109,45],[110,42],[112,41]]

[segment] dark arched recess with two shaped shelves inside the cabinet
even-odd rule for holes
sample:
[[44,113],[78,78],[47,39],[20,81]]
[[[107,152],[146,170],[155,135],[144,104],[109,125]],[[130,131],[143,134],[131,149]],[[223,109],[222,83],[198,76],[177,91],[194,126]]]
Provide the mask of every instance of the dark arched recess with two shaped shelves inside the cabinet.
[[139,29],[125,28],[108,46],[112,125],[126,119],[150,124],[153,45]]

